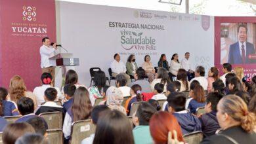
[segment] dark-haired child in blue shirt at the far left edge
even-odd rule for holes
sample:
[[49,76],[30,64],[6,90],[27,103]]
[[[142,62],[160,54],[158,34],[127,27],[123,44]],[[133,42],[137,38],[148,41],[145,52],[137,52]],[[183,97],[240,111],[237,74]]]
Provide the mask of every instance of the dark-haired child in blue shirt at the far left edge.
[[0,87],[0,116],[7,117],[20,115],[15,104],[12,101],[7,101],[7,96],[7,89]]

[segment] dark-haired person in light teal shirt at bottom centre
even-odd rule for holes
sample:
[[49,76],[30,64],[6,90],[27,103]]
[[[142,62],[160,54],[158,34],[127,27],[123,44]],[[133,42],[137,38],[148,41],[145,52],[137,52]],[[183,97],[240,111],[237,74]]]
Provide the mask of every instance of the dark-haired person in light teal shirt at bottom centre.
[[149,122],[156,109],[148,102],[140,103],[136,113],[133,114],[133,137],[135,144],[153,143],[150,135]]

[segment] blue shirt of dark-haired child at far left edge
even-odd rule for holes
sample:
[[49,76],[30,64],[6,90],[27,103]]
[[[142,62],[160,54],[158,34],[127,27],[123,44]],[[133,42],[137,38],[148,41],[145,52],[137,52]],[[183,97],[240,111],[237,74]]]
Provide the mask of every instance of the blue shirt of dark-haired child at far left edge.
[[4,117],[20,115],[20,113],[18,113],[18,109],[13,101],[3,100],[2,103],[3,103],[3,116]]

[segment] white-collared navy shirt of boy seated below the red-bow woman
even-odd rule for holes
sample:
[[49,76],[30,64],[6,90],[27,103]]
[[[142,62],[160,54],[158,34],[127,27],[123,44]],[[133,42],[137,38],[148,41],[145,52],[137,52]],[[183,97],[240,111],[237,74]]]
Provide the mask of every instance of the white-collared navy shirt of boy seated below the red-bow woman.
[[37,109],[35,115],[40,115],[41,113],[49,113],[54,111],[60,111],[63,115],[65,114],[62,106],[57,105],[56,103],[54,103],[54,101],[47,101],[46,103],[41,105],[39,109]]

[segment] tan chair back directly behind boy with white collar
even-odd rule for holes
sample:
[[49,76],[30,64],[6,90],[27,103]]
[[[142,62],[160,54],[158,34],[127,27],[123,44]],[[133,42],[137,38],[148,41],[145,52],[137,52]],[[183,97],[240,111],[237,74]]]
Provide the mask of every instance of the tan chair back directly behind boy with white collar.
[[39,117],[45,118],[48,129],[62,129],[63,114],[60,111],[41,113]]

